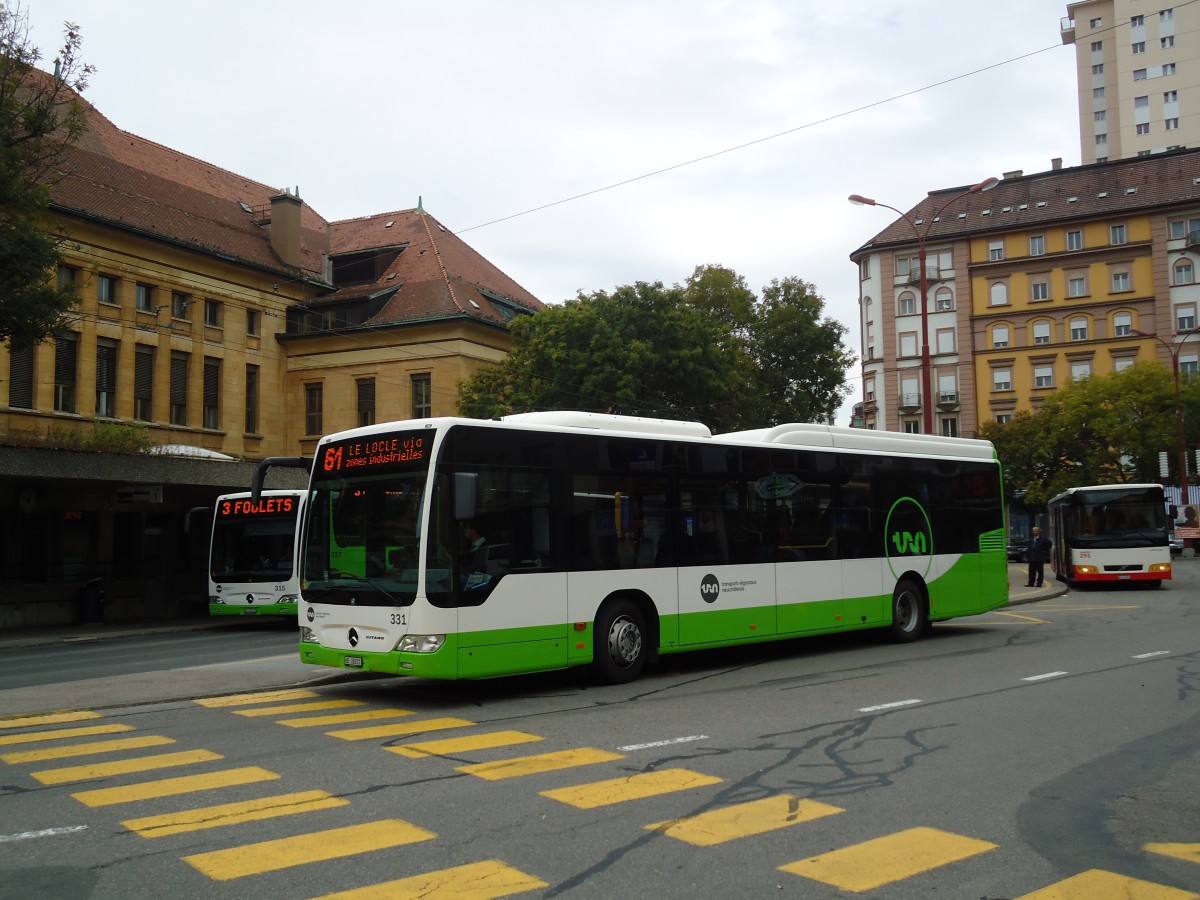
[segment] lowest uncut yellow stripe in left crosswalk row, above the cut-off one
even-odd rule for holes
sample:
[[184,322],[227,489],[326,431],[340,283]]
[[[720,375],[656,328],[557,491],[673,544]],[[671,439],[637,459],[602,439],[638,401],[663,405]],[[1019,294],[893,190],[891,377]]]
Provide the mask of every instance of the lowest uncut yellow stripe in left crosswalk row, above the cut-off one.
[[247,875],[290,869],[305,863],[320,863],[373,850],[401,847],[433,838],[437,838],[433,832],[426,832],[398,818],[385,818],[295,838],[280,838],[229,850],[197,853],[184,857],[184,862],[215,881],[230,881]]

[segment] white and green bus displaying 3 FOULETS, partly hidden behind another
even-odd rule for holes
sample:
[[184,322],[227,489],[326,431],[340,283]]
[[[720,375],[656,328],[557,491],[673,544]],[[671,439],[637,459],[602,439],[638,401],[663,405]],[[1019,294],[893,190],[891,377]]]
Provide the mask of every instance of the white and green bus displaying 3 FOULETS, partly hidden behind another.
[[209,541],[210,616],[295,616],[304,491],[217,497]]

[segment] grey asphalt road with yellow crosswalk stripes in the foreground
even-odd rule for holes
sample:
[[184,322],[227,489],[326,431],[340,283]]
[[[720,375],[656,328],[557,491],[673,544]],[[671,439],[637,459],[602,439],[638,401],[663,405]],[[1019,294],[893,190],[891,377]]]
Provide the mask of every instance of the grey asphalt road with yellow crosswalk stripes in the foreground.
[[[1073,592],[917,644],[690,654],[623,686],[310,680],[325,673],[270,655],[160,672],[169,701],[145,700],[154,672],[48,685],[109,697],[78,720],[0,722],[0,884],[1195,898],[1200,565],[1178,569],[1160,590]],[[0,709],[36,690],[0,691]]]

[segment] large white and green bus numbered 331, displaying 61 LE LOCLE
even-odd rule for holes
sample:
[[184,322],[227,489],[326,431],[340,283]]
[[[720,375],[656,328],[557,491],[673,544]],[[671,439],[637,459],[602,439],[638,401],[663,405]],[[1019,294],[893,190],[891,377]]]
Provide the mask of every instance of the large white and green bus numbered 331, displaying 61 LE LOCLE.
[[820,425],[558,412],[330,434],[302,554],[305,662],[428,678],[618,683],[690,649],[913,641],[1008,599],[991,444]]

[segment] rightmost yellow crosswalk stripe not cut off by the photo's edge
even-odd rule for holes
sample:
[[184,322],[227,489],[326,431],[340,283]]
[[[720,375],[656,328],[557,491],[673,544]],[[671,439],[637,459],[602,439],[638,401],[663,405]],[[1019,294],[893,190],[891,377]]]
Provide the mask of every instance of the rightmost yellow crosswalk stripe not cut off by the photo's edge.
[[871,890],[995,850],[988,841],[936,828],[910,828],[779,866],[842,890]]

